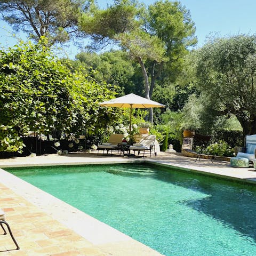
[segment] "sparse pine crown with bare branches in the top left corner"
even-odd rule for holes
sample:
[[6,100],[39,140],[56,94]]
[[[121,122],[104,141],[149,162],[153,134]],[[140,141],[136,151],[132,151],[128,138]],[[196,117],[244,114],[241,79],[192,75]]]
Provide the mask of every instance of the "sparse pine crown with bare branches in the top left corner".
[[47,36],[52,45],[67,42],[70,35],[78,36],[78,19],[89,5],[90,1],[82,0],[2,0],[0,12],[15,30],[28,33],[36,41]]

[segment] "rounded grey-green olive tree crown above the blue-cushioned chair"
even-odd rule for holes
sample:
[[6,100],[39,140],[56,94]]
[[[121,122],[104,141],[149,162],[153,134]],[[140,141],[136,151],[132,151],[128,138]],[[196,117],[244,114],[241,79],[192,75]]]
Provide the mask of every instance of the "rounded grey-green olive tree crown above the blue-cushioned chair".
[[197,51],[197,80],[208,113],[233,114],[243,133],[256,133],[256,36],[213,39]]

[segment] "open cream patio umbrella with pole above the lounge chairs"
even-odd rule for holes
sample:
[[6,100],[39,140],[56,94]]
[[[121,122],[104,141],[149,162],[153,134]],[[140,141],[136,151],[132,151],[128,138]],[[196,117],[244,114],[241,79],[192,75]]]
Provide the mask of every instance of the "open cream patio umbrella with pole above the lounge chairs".
[[129,135],[131,138],[132,130],[132,108],[164,108],[165,106],[153,100],[149,100],[139,95],[130,93],[122,97],[104,101],[99,103],[102,107],[117,107],[117,108],[130,108],[130,126]]

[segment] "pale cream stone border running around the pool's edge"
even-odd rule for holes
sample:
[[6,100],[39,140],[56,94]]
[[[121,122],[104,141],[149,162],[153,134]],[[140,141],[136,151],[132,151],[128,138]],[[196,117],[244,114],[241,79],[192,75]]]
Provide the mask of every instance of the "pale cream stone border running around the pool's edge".
[[[256,184],[256,171],[252,168],[233,168],[228,162],[211,163],[209,160],[201,159],[195,163],[195,159],[183,157],[179,154],[159,154],[158,157],[151,158],[125,158],[97,156],[96,154],[68,154],[67,156],[45,155],[37,157],[17,157],[10,159],[0,159],[0,167],[28,167],[46,165],[81,165],[81,164],[110,164],[110,163],[151,163],[162,166],[177,168],[178,170],[197,172],[200,174],[213,175],[214,177],[236,180],[239,182]],[[88,254],[96,255],[161,255],[118,230],[109,227],[89,215],[79,211],[60,201],[58,198],[45,193],[41,189],[30,185],[26,181],[0,169],[1,183],[14,193],[18,194],[25,201],[35,205],[38,211],[49,215],[53,220],[60,222],[76,234],[82,236],[92,246],[102,250],[103,254],[97,252]],[[2,206],[1,206],[2,207]],[[18,208],[17,208],[18,209]],[[15,210],[15,207],[14,207]],[[26,213],[28,214],[28,213]],[[31,213],[30,213],[31,214]],[[46,247],[47,249],[47,247]],[[24,249],[23,249],[24,250]],[[26,248],[25,248],[26,250]],[[8,251],[13,253],[13,251]],[[18,251],[15,251],[18,253]],[[20,253],[22,250],[19,251]],[[59,253],[62,253],[60,250]],[[54,255],[54,254],[15,254],[15,255]],[[56,254],[57,255],[57,254]],[[69,255],[69,254],[59,254]],[[72,255],[72,254],[70,254]],[[83,254],[75,254],[83,255]],[[87,255],[87,254],[84,254]]]

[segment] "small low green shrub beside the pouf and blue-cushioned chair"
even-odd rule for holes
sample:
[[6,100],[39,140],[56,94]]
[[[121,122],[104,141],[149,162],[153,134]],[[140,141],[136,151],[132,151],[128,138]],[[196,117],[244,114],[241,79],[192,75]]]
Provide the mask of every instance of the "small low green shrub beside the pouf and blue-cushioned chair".
[[[200,151],[201,147],[197,147],[196,151]],[[227,142],[219,141],[215,142],[202,151],[203,154],[209,154],[213,156],[234,156],[234,149],[231,148]]]

